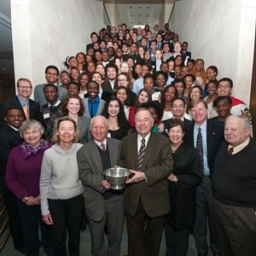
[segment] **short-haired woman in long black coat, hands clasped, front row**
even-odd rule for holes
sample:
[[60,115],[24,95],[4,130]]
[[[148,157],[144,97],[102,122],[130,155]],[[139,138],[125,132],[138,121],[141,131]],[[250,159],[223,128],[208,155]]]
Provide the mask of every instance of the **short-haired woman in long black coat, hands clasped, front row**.
[[196,186],[201,183],[201,167],[195,148],[183,142],[185,127],[181,119],[172,119],[168,125],[171,141],[173,171],[168,177],[171,211],[167,215],[166,255],[186,256],[189,233],[195,223]]

